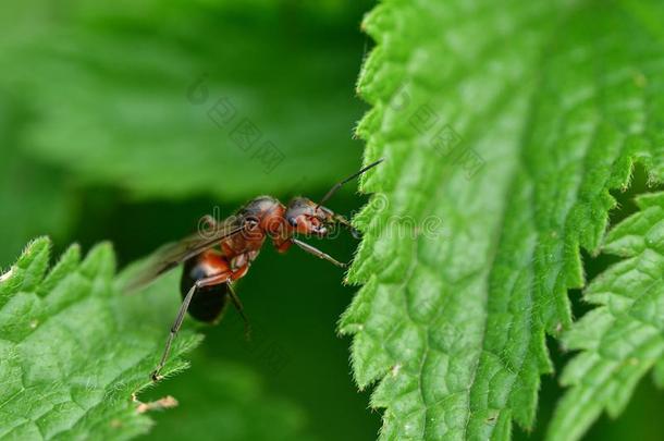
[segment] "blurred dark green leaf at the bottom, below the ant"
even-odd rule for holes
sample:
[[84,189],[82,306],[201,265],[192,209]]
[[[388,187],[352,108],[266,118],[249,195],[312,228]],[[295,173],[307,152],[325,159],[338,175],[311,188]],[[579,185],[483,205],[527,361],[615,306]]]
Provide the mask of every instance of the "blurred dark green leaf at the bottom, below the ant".
[[280,441],[310,440],[305,434],[302,409],[270,396],[261,380],[242,365],[212,362],[204,356],[192,360],[186,376],[155,392],[168,390],[177,408],[156,415],[147,439]]

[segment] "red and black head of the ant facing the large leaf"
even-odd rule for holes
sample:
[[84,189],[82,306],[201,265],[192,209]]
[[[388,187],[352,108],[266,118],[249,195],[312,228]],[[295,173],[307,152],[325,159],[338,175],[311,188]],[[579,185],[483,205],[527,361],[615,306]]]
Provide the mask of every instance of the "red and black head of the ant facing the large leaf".
[[343,216],[336,215],[306,197],[295,197],[288,203],[285,219],[288,225],[299,234],[325,236],[334,224],[347,226],[354,236],[358,233]]

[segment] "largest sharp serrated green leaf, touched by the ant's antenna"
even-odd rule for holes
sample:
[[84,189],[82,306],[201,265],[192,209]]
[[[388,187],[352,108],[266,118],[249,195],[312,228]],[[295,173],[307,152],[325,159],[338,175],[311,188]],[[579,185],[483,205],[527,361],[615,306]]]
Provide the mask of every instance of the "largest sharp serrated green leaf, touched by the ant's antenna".
[[[545,333],[570,326],[632,162],[664,174],[661,2],[384,1],[365,233],[342,317],[382,439],[508,439],[534,424]],[[431,225],[442,225],[433,228]],[[404,234],[410,233],[410,234]]]

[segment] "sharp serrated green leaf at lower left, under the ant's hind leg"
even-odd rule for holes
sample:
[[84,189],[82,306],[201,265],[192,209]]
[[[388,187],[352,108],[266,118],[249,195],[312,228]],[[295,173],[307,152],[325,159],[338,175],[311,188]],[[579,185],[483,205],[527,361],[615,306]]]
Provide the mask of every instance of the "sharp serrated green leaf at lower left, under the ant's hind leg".
[[[0,278],[0,438],[128,439],[147,431],[150,419],[132,394],[150,385],[172,318],[164,310],[174,302],[161,283],[146,296],[120,294],[108,244],[83,261],[72,246],[50,271],[49,249],[47,238],[34,241]],[[185,368],[180,355],[199,340],[181,335],[168,373]]]

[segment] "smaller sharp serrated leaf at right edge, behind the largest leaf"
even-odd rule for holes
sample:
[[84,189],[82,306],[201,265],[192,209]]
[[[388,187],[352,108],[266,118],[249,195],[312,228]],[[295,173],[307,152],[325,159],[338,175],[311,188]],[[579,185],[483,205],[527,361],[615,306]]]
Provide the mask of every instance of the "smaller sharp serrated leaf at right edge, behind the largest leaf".
[[638,381],[664,362],[664,193],[638,198],[641,211],[606,236],[603,249],[624,258],[590,286],[598,307],[563,335],[581,351],[563,371],[570,387],[549,427],[551,440],[581,438],[602,411],[616,418]]

